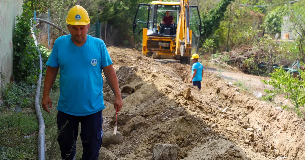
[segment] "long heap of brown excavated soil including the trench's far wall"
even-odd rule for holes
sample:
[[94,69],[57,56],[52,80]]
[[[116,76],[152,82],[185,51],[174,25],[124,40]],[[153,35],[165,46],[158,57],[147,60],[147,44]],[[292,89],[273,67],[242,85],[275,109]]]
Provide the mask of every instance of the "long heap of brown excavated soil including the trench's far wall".
[[[189,65],[161,64],[135,49],[108,51],[124,98],[117,121],[123,136],[102,147],[117,160],[151,160],[156,143],[177,145],[177,159],[186,160],[305,159],[304,119],[238,94],[220,79],[204,76],[200,91],[185,83]],[[105,78],[104,97],[106,132],[116,112]]]

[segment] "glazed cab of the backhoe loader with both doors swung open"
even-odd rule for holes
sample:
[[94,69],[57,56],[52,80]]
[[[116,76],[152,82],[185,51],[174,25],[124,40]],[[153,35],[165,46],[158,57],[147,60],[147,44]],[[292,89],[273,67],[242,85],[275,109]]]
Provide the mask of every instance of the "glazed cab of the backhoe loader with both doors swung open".
[[[190,30],[198,37],[201,32],[201,20],[197,6],[190,7]],[[152,37],[176,37],[176,29],[179,20],[180,2],[152,1],[151,4],[140,3],[133,22],[133,33],[141,34],[143,28],[147,28],[147,36]],[[161,30],[161,22],[166,12],[174,18],[173,27],[165,27]]]

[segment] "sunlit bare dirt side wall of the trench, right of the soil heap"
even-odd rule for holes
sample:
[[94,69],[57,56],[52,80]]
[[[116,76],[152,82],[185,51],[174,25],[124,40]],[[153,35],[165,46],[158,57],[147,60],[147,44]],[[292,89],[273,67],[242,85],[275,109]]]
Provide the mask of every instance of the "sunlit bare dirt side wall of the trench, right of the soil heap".
[[[185,82],[189,81],[190,68],[189,72],[182,72],[184,65],[170,65],[177,69]],[[225,84],[223,79],[212,78],[215,76],[213,73],[206,73],[201,92],[209,95],[219,108],[230,108],[230,114],[240,119],[240,126],[253,128],[255,133],[272,144],[271,148],[291,159],[305,159],[305,119],[281,108],[274,108],[252,94],[240,94],[237,88]]]

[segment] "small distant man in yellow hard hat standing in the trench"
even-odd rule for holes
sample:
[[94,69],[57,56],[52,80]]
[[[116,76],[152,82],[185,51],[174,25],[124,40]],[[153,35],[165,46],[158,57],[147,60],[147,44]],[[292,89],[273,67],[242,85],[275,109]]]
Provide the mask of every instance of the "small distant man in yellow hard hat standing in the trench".
[[199,55],[193,54],[192,55],[192,61],[194,62],[192,66],[192,79],[190,80],[191,83],[193,83],[194,86],[197,86],[199,90],[201,90],[201,81],[203,77],[203,65],[198,62]]

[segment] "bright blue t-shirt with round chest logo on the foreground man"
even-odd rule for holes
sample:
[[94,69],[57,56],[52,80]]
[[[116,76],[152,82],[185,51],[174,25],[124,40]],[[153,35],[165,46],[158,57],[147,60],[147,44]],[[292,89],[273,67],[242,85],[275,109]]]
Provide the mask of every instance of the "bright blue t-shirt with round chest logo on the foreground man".
[[71,34],[56,39],[46,65],[60,67],[57,110],[86,116],[105,108],[102,67],[112,64],[104,41],[87,34],[81,47]]

